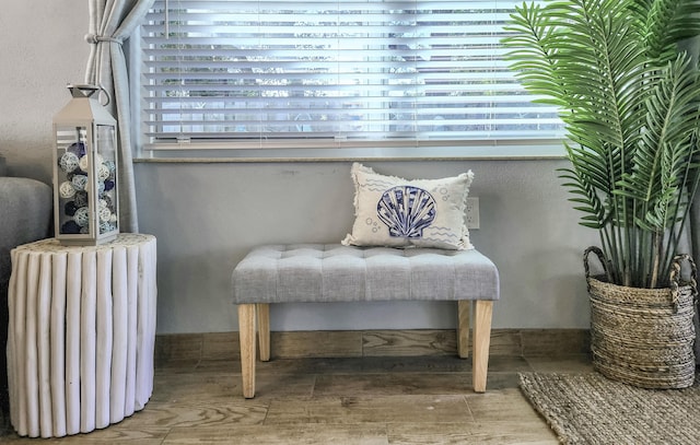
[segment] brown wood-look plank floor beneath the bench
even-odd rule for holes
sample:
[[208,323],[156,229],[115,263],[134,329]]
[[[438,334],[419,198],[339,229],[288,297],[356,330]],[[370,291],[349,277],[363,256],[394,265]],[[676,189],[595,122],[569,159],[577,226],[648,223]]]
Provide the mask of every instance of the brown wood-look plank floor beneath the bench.
[[488,390],[471,390],[456,356],[277,359],[241,396],[240,362],[170,362],[147,407],[104,430],[2,444],[557,444],[517,387],[517,372],[591,371],[586,355],[492,356]]

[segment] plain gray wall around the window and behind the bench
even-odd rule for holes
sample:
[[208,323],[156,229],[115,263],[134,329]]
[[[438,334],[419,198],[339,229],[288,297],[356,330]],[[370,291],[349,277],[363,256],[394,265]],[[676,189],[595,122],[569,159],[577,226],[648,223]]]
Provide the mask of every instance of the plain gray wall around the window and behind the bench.
[[[81,82],[88,7],[11,2],[0,15],[0,156],[13,176],[51,180],[51,118]],[[498,328],[586,328],[581,254],[597,235],[576,225],[555,169],[563,160],[366,162],[380,173],[436,178],[475,172],[474,244],[501,272]],[[254,245],[337,242],[352,224],[350,162],[138,163],[141,231],[159,243],[159,332],[236,330],[230,276]],[[452,304],[280,305],[276,330],[446,328]]]

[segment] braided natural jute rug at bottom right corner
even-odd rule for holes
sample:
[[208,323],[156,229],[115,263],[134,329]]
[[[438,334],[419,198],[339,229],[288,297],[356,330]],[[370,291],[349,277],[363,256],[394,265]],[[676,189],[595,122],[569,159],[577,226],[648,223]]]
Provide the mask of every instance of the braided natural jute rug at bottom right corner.
[[642,389],[598,373],[521,373],[562,444],[700,444],[700,386]]

